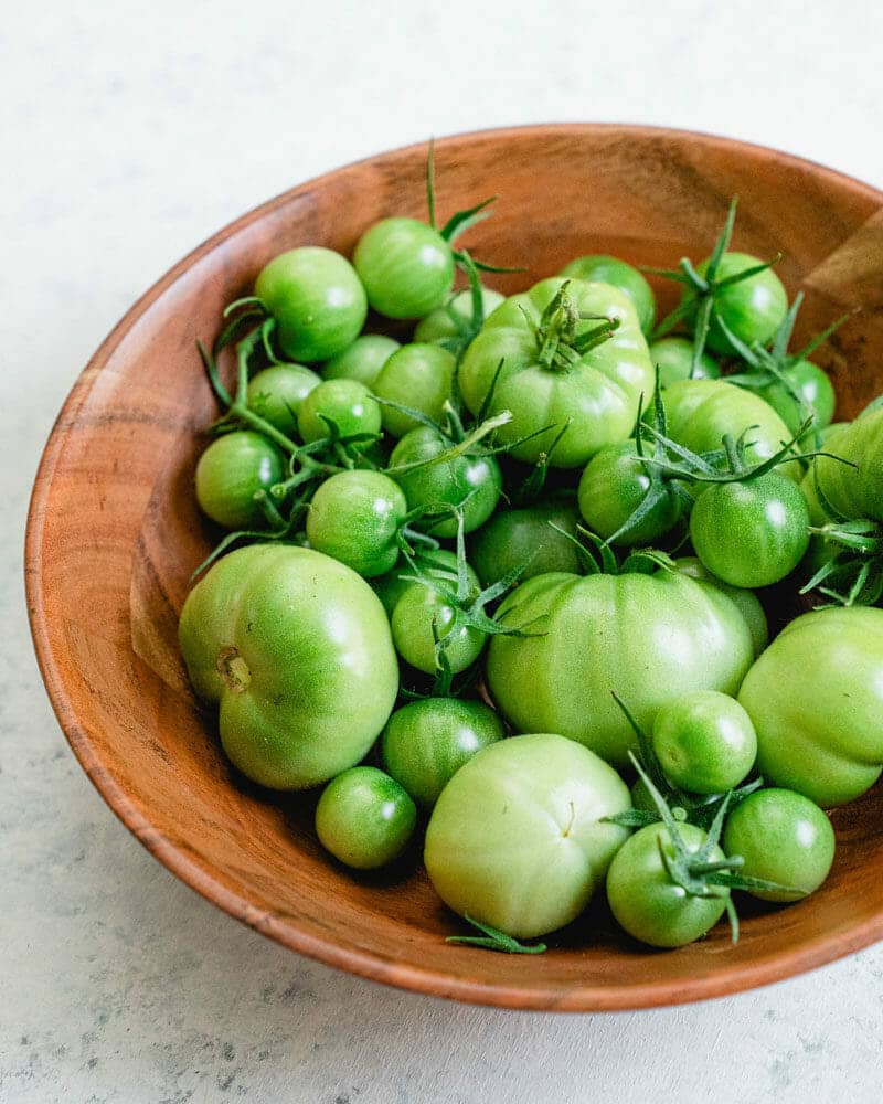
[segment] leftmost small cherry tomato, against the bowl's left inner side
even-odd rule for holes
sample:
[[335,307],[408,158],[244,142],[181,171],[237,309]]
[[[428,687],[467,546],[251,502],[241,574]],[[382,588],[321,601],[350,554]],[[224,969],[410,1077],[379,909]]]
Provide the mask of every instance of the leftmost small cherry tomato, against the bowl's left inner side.
[[255,501],[283,478],[279,449],[251,429],[216,437],[196,465],[196,501],[203,513],[226,529],[251,529],[264,521]]

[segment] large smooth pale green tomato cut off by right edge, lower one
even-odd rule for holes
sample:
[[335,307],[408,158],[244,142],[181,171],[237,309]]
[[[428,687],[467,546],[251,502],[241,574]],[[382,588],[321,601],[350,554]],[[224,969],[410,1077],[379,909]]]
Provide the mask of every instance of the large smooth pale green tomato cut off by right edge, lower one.
[[787,625],[738,692],[767,783],[829,808],[883,767],[883,609],[818,609]]

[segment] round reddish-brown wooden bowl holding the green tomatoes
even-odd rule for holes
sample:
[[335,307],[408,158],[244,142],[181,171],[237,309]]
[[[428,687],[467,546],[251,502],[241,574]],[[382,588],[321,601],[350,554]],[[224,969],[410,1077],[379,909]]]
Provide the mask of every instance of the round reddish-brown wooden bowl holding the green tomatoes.
[[[883,936],[883,787],[834,816],[839,849],[810,900],[747,905],[737,946],[721,924],[652,953],[614,932],[603,905],[538,957],[446,944],[461,931],[416,858],[353,878],[316,842],[308,796],[233,777],[178,656],[178,613],[213,534],[192,495],[215,415],[194,349],[275,254],[349,253],[391,214],[425,216],[426,146],[383,153],[272,200],[182,261],[128,312],[77,380],[33,492],[26,581],[36,652],[84,769],[140,841],[199,893],[272,938],[333,966],[459,1000],[625,1009],[734,992]],[[829,169],[721,138],[623,126],[545,126],[439,141],[443,217],[498,195],[468,237],[478,256],[530,270],[585,253],[641,265],[705,255],[740,197],[736,248],[773,256],[802,289],[797,340],[852,317],[820,353],[839,416],[883,391],[883,194]],[[673,301],[660,285],[662,309]]]

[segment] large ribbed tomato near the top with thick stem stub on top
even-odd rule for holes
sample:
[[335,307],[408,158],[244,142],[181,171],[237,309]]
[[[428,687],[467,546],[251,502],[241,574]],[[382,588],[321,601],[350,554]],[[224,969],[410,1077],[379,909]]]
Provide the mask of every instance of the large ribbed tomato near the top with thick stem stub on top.
[[[567,294],[582,316],[595,318],[581,321],[577,336],[597,328],[598,316],[619,326],[582,355],[563,342],[561,355],[547,367],[541,363],[546,343],[538,332],[540,319],[565,283],[560,277],[544,279],[501,304],[466,350],[458,379],[464,402],[477,414],[497,376],[489,413],[512,413],[498,437],[513,446],[511,454],[519,460],[535,464],[567,424],[550,464],[575,468],[604,445],[630,435],[640,395],[652,395],[653,368],[628,296],[609,284],[578,279],[567,283]],[[547,426],[552,428],[515,444]]]

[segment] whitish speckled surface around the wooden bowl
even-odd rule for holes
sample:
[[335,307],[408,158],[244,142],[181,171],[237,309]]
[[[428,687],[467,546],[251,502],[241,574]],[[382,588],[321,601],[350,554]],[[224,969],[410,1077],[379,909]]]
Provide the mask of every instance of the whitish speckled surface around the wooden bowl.
[[565,1017],[386,989],[240,926],[91,788],[21,583],[28,492],[77,372],[228,220],[385,148],[550,120],[692,127],[883,185],[880,7],[15,8],[0,20],[0,1100],[880,1100],[883,947],[733,999]]

